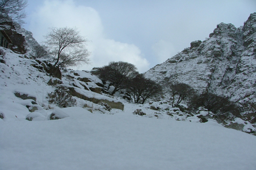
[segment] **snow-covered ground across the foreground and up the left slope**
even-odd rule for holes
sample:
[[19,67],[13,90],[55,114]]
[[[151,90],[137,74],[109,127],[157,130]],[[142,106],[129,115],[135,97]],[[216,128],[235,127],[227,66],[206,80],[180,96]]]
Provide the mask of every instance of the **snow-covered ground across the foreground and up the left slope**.
[[[6,63],[0,63],[1,170],[256,167],[256,136],[224,128],[211,119],[198,123],[199,118],[191,116],[190,121],[177,121],[182,116],[169,116],[149,109],[149,104],[135,105],[120,98],[115,100],[124,104],[124,110],[105,114],[100,105],[78,98],[77,106],[91,105],[93,113],[88,108],[48,105],[46,95],[54,90],[47,85],[50,77],[31,66],[33,60],[2,50]],[[70,83],[65,78],[62,82]],[[37,105],[33,106],[38,110],[29,112],[26,106],[32,100],[17,98],[15,92],[35,97]],[[168,104],[156,106],[164,109]],[[136,109],[146,115],[134,115]],[[172,109],[168,111],[174,113]],[[49,120],[51,113],[63,118]],[[26,120],[31,114],[33,121]]]

